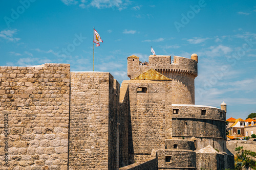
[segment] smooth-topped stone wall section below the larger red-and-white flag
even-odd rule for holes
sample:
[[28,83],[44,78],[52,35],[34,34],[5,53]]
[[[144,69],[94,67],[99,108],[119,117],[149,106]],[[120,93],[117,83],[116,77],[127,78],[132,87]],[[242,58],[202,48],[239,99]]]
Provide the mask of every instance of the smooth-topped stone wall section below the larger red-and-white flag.
[[[118,83],[109,72],[71,72],[69,166],[117,168]],[[114,93],[116,92],[116,93]]]

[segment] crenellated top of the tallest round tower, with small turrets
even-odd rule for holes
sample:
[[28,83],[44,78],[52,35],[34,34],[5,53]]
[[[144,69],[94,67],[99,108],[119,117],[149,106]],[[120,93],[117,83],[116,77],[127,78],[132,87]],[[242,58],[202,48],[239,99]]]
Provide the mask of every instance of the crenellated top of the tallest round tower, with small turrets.
[[139,57],[134,55],[127,58],[127,76],[131,79],[148,69],[155,69],[161,74],[167,75],[184,74],[193,78],[196,78],[198,75],[197,58],[194,59],[192,56],[191,59],[174,56],[172,60],[171,56],[151,55],[148,57],[148,63],[139,61]]

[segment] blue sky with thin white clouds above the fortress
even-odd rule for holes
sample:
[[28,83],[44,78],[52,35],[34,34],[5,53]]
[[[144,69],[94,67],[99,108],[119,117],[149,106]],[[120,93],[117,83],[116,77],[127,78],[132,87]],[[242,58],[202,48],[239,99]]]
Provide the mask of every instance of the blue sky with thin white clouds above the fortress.
[[[70,63],[121,83],[127,60],[199,57],[196,104],[227,104],[227,118],[256,112],[256,1],[0,1],[0,65]],[[65,50],[66,49],[66,50]]]

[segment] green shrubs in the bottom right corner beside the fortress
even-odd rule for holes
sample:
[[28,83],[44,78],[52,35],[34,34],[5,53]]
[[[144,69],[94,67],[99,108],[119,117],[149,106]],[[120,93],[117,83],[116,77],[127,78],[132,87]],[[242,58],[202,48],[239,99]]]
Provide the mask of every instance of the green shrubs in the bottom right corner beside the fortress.
[[234,169],[242,170],[242,168],[251,167],[256,169],[256,161],[251,158],[256,158],[256,153],[248,150],[243,150],[243,147],[235,149],[238,153],[234,156]]

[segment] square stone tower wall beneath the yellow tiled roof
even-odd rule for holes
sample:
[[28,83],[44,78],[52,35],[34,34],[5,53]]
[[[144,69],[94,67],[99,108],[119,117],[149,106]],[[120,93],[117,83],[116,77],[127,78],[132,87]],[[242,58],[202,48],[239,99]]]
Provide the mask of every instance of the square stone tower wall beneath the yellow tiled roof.
[[[172,137],[170,81],[124,81],[129,85],[131,128],[130,141],[135,161],[148,158],[153,148],[164,148]],[[146,92],[137,92],[144,87]]]

